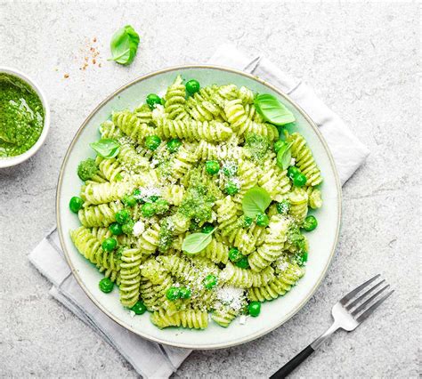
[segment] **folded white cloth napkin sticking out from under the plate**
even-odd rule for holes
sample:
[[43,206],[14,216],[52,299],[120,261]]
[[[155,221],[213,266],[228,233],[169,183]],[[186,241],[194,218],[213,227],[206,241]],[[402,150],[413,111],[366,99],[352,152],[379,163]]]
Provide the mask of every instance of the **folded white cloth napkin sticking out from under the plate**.
[[[215,52],[209,63],[254,73],[288,93],[321,127],[336,161],[342,183],[347,181],[368,156],[368,149],[350,132],[345,123],[316,97],[311,88],[280,71],[271,61],[261,57],[251,60],[234,46],[224,44]],[[99,310],[71,275],[55,229],[29,254],[29,260],[52,282],[50,294],[110,343],[143,377],[166,378],[174,373],[191,353],[187,349],[147,341],[120,327]]]

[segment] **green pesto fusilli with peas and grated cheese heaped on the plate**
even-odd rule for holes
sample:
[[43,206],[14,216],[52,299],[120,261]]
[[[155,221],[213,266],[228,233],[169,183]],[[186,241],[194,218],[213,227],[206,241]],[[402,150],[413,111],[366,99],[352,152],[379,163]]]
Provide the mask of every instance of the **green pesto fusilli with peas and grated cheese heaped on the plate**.
[[[192,87],[177,76],[158,93],[100,125],[118,150],[81,162],[81,226],[70,238],[117,284],[127,311],[142,302],[159,328],[230,327],[249,302],[272,301],[304,276],[321,171],[300,128],[264,121],[245,86]],[[250,214],[256,189],[268,206]],[[191,251],[191,238],[206,243]]]

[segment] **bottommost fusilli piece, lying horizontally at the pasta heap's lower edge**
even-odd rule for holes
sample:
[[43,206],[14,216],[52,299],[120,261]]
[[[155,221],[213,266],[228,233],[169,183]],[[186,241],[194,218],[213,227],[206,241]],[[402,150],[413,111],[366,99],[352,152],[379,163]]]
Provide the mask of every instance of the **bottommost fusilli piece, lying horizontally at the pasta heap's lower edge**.
[[208,326],[208,313],[201,310],[182,310],[169,315],[160,309],[150,316],[151,322],[159,327],[188,327],[190,329],[205,329]]

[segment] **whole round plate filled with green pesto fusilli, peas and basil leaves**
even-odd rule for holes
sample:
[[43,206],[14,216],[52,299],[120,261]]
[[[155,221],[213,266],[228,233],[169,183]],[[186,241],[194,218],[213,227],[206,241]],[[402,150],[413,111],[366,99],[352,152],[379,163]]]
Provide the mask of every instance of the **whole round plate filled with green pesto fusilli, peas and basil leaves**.
[[218,349],[310,299],[336,248],[341,188],[321,133],[286,94],[183,66],[93,110],[56,207],[70,268],[111,319],[158,343]]

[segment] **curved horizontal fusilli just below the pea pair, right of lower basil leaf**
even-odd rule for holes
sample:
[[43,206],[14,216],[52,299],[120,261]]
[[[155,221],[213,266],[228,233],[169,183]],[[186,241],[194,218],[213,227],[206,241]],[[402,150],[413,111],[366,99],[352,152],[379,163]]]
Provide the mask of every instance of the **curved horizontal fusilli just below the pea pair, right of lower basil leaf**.
[[241,288],[250,288],[251,286],[264,286],[274,278],[274,269],[269,266],[260,272],[253,270],[240,269],[231,262],[227,262],[221,277],[224,283]]

